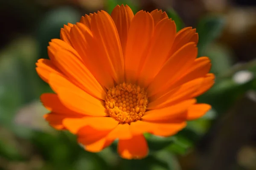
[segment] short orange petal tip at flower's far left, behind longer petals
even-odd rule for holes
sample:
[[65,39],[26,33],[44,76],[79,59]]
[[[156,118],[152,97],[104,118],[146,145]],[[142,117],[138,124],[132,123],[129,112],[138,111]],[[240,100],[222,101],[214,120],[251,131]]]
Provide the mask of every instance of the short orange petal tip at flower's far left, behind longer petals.
[[49,59],[38,59],[35,65],[37,66],[35,69],[39,77],[47,83],[49,83],[50,73],[61,74],[58,68],[56,68]]

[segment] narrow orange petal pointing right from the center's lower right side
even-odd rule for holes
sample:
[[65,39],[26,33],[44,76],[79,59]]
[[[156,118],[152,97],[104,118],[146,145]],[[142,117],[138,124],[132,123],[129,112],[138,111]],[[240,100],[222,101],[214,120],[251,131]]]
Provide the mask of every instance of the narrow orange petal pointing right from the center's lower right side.
[[176,105],[172,105],[166,108],[154,109],[151,111],[145,112],[142,120],[144,121],[159,121],[159,120],[169,120],[177,119],[180,116],[183,116],[183,113],[196,102],[195,99],[185,100]]

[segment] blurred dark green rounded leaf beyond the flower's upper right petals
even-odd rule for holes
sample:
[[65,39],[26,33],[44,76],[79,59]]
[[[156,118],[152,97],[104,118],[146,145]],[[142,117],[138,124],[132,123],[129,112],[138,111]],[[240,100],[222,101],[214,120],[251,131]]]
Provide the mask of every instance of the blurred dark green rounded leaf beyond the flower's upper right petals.
[[198,56],[204,55],[206,47],[221,34],[225,20],[220,16],[205,16],[197,26],[199,35]]

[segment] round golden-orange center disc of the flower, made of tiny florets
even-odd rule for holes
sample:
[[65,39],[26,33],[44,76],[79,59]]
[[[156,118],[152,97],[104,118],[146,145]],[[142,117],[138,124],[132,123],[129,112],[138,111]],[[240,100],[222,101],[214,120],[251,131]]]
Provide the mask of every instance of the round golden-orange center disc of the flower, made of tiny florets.
[[109,116],[120,123],[130,123],[140,120],[148,105],[144,88],[128,83],[122,83],[110,88],[105,107]]

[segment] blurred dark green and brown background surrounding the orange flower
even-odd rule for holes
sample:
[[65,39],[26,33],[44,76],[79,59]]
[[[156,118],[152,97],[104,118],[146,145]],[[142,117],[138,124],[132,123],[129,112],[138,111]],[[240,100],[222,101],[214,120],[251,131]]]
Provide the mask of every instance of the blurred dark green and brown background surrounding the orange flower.
[[[199,55],[212,59],[214,87],[198,98],[212,105],[175,136],[147,136],[150,155],[123,160],[115,145],[88,153],[44,121],[50,92],[35,72],[63,24],[117,4],[163,9],[177,29],[197,28]],[[256,170],[256,1],[0,0],[0,170]]]

